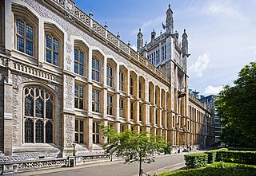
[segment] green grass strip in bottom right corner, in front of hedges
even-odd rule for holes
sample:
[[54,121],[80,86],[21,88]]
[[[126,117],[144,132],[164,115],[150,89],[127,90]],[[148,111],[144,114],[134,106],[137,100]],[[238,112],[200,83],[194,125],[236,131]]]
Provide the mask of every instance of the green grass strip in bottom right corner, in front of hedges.
[[237,164],[230,162],[214,162],[198,169],[174,170],[158,176],[254,176],[255,165]]

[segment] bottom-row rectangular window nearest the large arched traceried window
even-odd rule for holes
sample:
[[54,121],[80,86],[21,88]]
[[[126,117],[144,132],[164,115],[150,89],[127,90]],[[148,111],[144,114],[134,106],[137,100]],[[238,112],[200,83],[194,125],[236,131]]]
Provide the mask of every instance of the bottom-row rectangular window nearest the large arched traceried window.
[[82,119],[75,119],[74,121],[74,142],[75,143],[84,143],[84,127],[85,121]]

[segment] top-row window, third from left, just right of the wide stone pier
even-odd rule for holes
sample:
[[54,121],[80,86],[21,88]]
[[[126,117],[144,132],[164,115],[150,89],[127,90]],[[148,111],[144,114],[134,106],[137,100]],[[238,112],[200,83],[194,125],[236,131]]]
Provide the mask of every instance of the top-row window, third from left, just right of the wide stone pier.
[[74,49],[74,72],[84,76],[85,54],[78,49]]

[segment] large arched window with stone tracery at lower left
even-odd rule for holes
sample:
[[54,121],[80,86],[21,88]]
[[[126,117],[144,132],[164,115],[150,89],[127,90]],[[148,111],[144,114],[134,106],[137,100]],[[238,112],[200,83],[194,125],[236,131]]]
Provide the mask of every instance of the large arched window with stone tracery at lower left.
[[26,87],[23,95],[25,143],[53,143],[54,96],[41,87]]

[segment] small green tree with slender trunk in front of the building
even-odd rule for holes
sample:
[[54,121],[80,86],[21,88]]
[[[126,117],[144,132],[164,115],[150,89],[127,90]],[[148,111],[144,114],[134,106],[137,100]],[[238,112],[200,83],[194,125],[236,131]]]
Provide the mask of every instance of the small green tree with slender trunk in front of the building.
[[118,133],[112,127],[102,126],[102,134],[106,136],[104,145],[106,153],[125,158],[125,163],[139,162],[139,175],[142,175],[142,162],[154,162],[154,152],[163,152],[168,146],[166,140],[159,135],[147,131],[124,131]]

